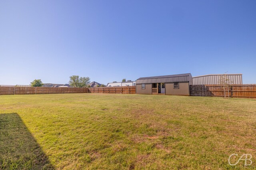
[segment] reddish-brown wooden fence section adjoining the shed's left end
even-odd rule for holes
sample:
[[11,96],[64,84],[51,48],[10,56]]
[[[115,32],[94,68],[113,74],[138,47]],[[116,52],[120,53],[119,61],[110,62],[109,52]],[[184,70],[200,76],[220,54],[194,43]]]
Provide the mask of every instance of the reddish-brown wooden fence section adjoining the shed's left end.
[[135,86],[122,87],[93,87],[88,88],[89,93],[120,93],[120,94],[136,94]]

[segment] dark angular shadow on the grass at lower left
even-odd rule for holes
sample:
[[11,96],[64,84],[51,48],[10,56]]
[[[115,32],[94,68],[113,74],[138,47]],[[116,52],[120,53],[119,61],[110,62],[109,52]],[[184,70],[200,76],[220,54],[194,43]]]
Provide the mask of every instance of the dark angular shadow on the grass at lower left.
[[0,169],[55,169],[17,113],[0,113]]

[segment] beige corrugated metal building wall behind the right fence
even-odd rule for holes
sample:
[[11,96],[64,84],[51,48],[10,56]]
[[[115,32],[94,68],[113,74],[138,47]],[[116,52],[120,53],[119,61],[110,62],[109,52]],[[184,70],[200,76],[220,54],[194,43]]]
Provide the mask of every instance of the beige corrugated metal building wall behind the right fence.
[[220,76],[223,75],[225,75],[230,80],[231,84],[243,84],[242,74],[209,74],[193,77],[193,85],[220,84]]

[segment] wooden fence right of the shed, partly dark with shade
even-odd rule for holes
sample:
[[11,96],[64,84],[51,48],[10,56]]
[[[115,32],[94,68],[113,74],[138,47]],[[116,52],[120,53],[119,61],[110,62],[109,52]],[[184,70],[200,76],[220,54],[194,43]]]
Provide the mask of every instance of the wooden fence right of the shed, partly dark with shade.
[[256,98],[256,84],[232,84],[225,92],[220,85],[191,85],[190,96],[221,96],[232,98]]

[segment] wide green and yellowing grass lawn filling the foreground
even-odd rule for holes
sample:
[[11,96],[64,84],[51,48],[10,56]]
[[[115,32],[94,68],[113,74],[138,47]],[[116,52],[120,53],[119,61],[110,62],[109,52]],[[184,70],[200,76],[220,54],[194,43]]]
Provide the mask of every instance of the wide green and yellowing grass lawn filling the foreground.
[[[228,165],[233,153],[252,165]],[[256,169],[256,100],[0,96],[0,169],[244,168]]]

